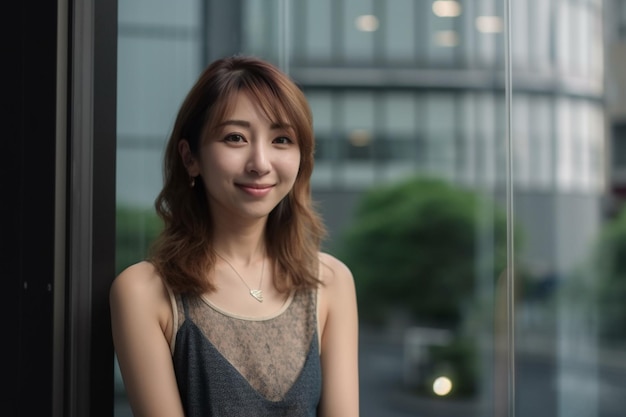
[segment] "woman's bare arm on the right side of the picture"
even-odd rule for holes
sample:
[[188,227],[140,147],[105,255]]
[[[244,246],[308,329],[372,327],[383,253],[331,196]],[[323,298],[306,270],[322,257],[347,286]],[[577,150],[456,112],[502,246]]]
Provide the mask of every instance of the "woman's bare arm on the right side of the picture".
[[359,415],[358,317],[354,279],[341,261],[321,255],[321,417]]

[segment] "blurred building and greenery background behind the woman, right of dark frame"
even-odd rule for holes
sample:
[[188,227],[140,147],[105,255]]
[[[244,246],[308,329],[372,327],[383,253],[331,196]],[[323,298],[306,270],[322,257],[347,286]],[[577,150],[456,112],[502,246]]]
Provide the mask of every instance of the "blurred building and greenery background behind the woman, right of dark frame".
[[309,99],[363,417],[624,414],[626,0],[119,0],[117,272],[184,95],[235,53]]

